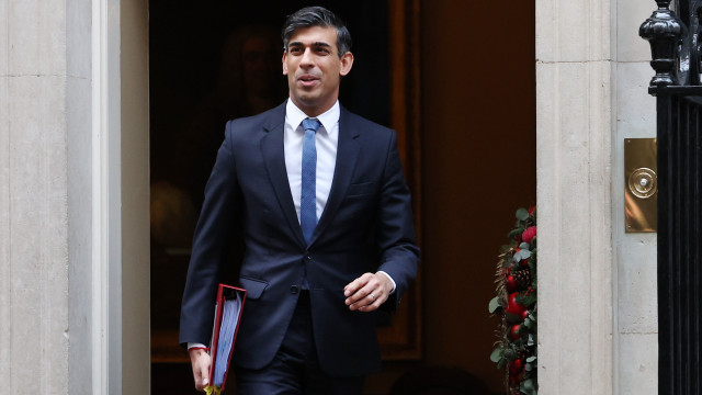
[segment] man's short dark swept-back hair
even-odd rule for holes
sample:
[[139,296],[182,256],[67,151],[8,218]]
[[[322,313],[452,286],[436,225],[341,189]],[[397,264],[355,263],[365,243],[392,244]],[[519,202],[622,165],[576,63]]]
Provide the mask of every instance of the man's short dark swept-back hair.
[[335,27],[337,30],[339,57],[351,50],[351,33],[349,33],[347,25],[339,16],[324,7],[306,7],[287,16],[281,32],[283,50],[287,52],[287,43],[290,43],[295,31],[313,26]]

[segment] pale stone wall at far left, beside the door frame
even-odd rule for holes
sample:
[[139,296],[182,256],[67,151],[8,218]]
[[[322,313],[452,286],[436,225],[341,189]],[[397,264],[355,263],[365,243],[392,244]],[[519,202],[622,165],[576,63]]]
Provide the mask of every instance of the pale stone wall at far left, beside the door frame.
[[0,1],[2,393],[91,393],[90,4]]

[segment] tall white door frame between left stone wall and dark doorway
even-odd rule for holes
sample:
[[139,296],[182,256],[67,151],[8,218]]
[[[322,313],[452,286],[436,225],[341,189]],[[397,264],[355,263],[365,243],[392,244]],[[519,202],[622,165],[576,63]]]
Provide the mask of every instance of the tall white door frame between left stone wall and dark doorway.
[[92,390],[149,393],[148,1],[92,0],[91,35]]

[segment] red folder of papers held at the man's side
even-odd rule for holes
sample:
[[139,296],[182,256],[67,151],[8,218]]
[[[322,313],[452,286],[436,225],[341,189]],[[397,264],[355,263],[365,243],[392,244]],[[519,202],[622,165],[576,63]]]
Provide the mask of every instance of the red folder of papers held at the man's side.
[[[230,319],[236,320],[234,332],[231,332],[231,330],[227,330],[226,325],[231,325],[233,323],[227,323],[226,320],[223,321],[223,318],[225,315],[225,303],[227,301],[236,301],[237,298],[240,300],[240,304],[238,305],[238,312],[234,309],[233,312],[236,315],[229,317]],[[212,358],[212,362],[210,365],[210,385],[215,386],[216,393],[224,391],[224,384],[227,381],[227,373],[229,372],[229,363],[231,362],[231,354],[234,354],[234,346],[237,339],[237,332],[239,331],[239,323],[241,321],[241,313],[244,312],[245,301],[246,301],[246,290],[239,289],[236,286],[219,284],[219,287],[217,289],[217,304],[215,306],[215,323],[214,323],[214,329],[212,335],[212,342],[210,345],[210,357]],[[225,337],[227,338],[225,339]],[[217,348],[220,341],[230,342],[231,346],[230,346],[228,356],[217,354],[218,353]],[[226,358],[227,362],[226,362],[222,386],[216,386],[214,382],[215,366],[217,365],[217,359],[219,358]]]

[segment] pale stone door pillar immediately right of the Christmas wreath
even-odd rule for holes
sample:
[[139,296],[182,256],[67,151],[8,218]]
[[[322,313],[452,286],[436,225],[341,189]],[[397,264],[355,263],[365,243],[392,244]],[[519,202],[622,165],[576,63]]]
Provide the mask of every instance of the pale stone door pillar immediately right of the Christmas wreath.
[[612,394],[609,5],[536,4],[542,394]]

